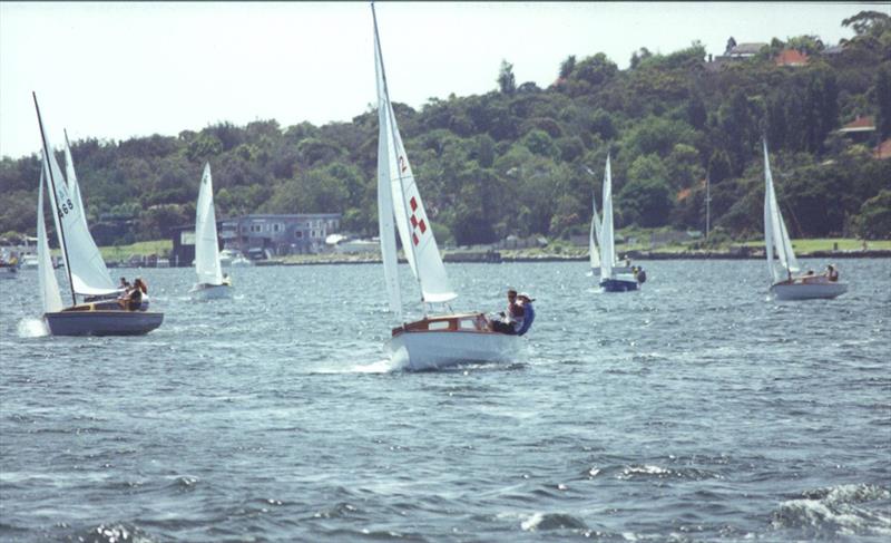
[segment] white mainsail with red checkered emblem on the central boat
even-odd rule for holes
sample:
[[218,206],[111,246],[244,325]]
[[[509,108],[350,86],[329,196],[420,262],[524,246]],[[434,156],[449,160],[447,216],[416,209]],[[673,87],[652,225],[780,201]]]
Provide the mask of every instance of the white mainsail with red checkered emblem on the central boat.
[[[374,7],[372,6],[372,13],[373,9]],[[375,66],[378,68],[379,117],[384,118],[384,122],[381,123],[381,136],[386,139],[385,144],[379,144],[379,153],[381,151],[384,152],[383,156],[379,154],[378,157],[379,176],[384,175],[390,182],[390,202],[395,217],[395,225],[399,230],[405,259],[409,261],[412,273],[414,273],[414,278],[421,288],[422,302],[448,302],[458,294],[454,293],[449,284],[449,277],[446,274],[446,266],[442,264],[439,246],[433,236],[433,229],[421,201],[421,194],[418,192],[418,185],[414,182],[405,147],[402,145],[402,137],[399,135],[399,126],[386,87],[386,74],[383,66],[380,37],[378,36],[376,16],[374,19],[374,50]],[[386,207],[384,205],[379,209],[379,214],[386,213]],[[383,241],[383,237],[388,235],[385,229],[386,225],[381,229],[382,253],[389,250],[389,248],[384,246],[388,242]],[[395,248],[392,249],[394,253]],[[384,268],[384,273],[386,274],[386,268]],[[390,285],[389,281],[390,279],[388,278],[388,287]],[[393,303],[392,294],[391,303]]]

